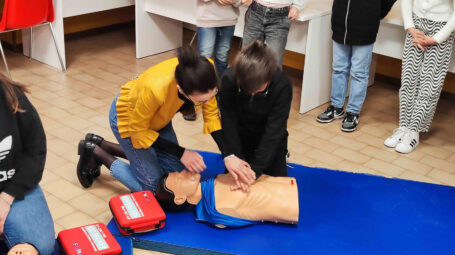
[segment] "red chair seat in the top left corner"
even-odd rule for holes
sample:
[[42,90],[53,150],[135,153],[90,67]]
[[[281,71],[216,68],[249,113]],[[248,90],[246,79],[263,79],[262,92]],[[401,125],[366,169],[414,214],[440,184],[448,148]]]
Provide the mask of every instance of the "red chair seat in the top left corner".
[[52,0],[6,0],[0,31],[28,28],[54,21]]

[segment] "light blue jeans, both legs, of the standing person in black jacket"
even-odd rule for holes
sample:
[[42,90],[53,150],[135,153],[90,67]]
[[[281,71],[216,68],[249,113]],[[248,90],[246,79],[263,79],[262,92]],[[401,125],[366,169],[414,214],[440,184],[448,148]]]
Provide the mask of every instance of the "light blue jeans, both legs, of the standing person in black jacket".
[[367,95],[373,45],[343,45],[333,42],[332,105],[343,108],[351,75],[346,111],[359,114]]

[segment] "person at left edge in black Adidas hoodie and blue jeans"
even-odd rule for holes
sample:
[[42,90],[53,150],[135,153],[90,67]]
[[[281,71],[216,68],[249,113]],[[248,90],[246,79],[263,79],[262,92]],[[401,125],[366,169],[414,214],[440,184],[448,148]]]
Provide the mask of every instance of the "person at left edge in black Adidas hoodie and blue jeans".
[[[8,255],[48,255],[54,250],[54,223],[38,185],[46,136],[24,92],[24,86],[0,75],[0,242]],[[0,248],[0,254],[6,252]]]

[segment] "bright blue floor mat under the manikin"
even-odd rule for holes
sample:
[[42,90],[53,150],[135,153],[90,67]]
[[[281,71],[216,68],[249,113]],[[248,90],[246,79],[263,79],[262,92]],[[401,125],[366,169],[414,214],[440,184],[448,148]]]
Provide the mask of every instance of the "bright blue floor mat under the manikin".
[[[202,154],[205,178],[224,171],[219,154]],[[292,166],[296,226],[217,229],[193,212],[167,213],[163,229],[129,238],[134,247],[174,254],[455,254],[454,187]],[[108,228],[119,234],[113,221]]]

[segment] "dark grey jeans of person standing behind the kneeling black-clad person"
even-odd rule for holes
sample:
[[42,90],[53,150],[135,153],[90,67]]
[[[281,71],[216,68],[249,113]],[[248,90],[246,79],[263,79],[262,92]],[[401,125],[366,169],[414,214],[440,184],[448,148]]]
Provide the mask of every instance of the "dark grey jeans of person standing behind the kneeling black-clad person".
[[288,7],[275,9],[253,1],[245,13],[242,47],[254,40],[265,42],[267,47],[276,53],[278,65],[281,67],[291,27],[288,14]]

